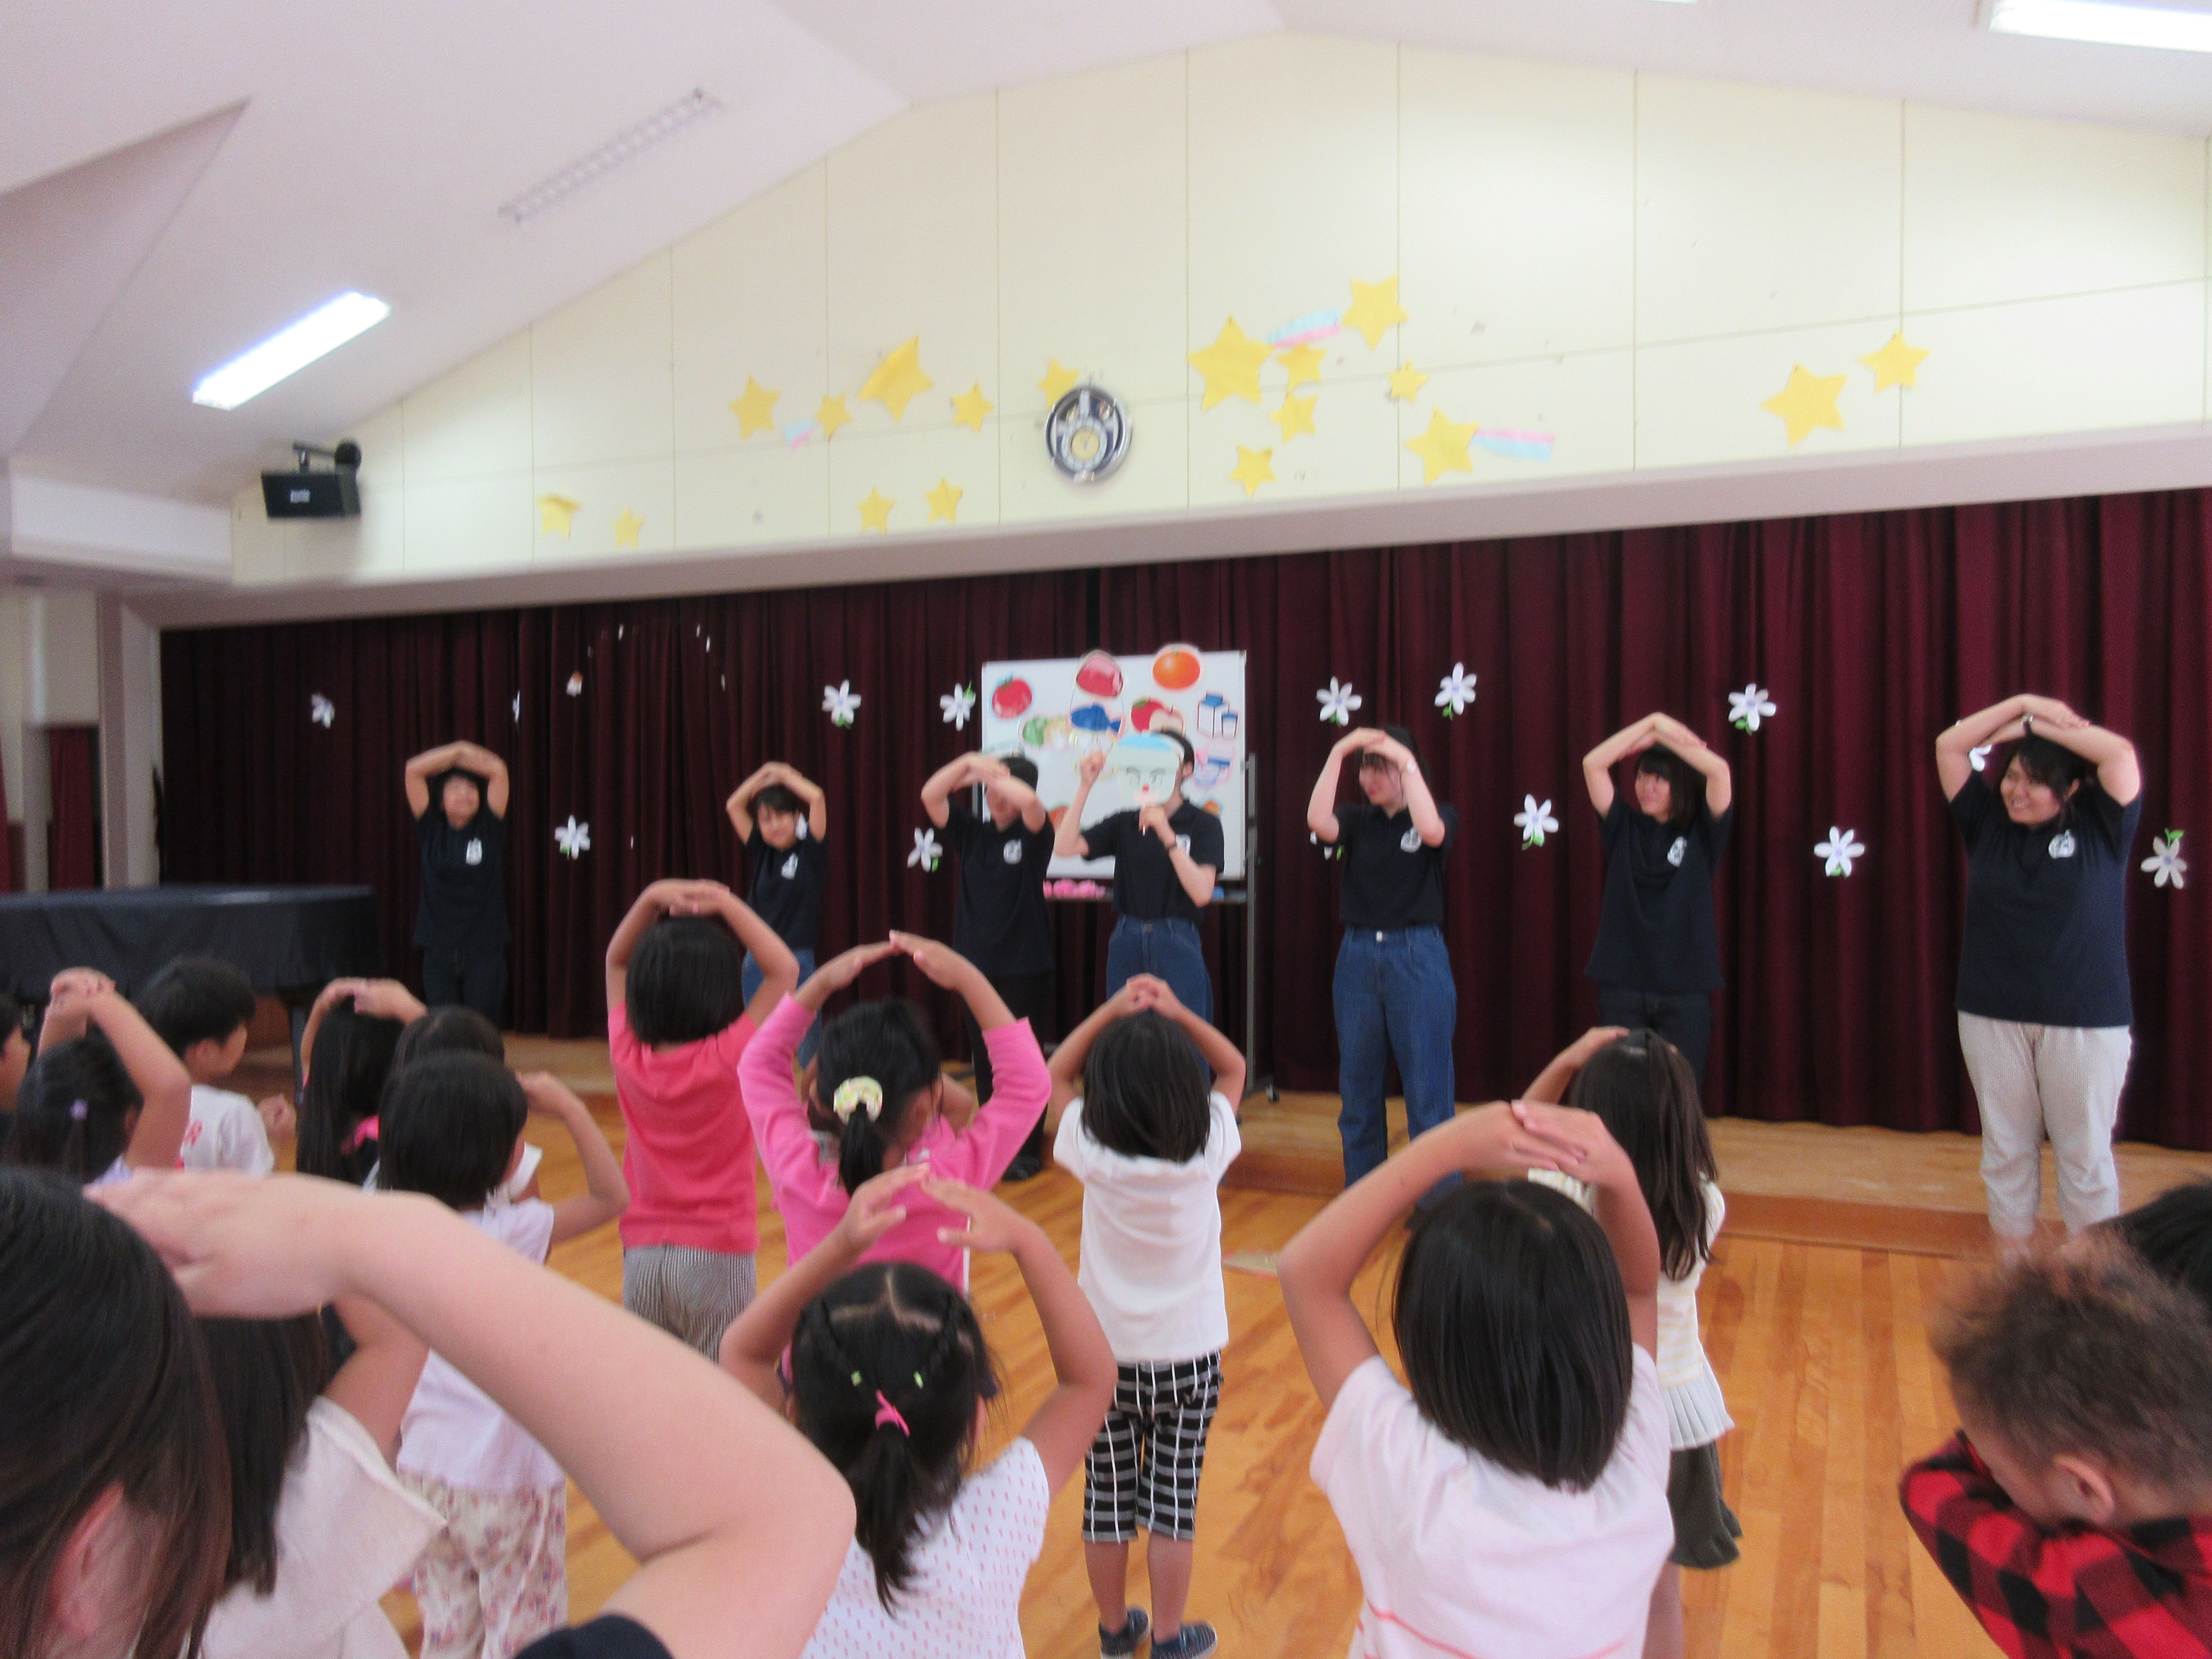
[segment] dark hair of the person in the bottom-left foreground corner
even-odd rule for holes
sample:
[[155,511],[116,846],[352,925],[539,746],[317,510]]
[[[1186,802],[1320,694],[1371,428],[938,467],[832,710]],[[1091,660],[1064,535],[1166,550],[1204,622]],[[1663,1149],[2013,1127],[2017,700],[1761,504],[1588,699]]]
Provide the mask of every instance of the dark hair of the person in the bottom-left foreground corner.
[[53,1571],[122,1489],[146,1528],[137,1652],[199,1652],[230,1553],[230,1464],[177,1281],[66,1181],[0,1168],[0,1652],[46,1648]]

